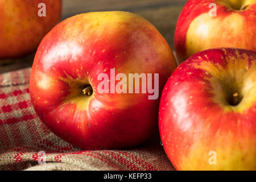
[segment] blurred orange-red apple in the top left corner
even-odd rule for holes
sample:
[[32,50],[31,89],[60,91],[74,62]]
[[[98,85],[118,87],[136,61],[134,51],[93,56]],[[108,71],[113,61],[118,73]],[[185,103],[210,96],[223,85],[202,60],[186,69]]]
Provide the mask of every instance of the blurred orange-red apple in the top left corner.
[[[46,16],[39,17],[39,3]],[[26,55],[38,47],[61,16],[61,0],[0,0],[0,58]]]

